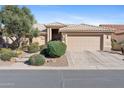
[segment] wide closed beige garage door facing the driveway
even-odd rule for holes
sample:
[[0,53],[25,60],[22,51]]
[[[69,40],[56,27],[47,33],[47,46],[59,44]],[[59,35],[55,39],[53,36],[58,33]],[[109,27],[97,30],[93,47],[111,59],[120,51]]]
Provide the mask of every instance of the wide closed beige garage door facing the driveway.
[[100,50],[100,36],[68,36],[67,50]]

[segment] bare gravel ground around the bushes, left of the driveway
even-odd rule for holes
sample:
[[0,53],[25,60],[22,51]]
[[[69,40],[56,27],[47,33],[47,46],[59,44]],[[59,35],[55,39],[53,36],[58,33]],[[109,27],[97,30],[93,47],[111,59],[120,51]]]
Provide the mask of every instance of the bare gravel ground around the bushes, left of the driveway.
[[[21,64],[20,66],[22,66],[22,65],[32,66],[32,65],[29,65],[26,61],[29,59],[28,56],[31,56],[33,54],[25,53],[23,56],[13,58],[13,60],[11,60],[11,61],[2,61],[2,60],[0,60],[0,67],[6,67],[6,66],[11,67],[11,66],[14,66],[14,65],[16,66],[16,65],[20,65],[20,64]],[[67,67],[68,62],[67,62],[66,56],[63,55],[62,57],[59,57],[59,58],[46,58],[46,61],[45,61],[44,65],[42,65],[40,67],[43,67],[43,66],[44,67]]]

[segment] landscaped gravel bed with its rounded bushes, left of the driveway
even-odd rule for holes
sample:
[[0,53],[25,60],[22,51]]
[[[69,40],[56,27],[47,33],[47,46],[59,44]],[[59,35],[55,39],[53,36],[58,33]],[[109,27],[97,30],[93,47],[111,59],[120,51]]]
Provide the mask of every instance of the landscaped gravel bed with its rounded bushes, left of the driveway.
[[65,51],[66,45],[61,41],[50,41],[42,46],[32,43],[25,50],[1,48],[0,66],[11,66],[20,63],[45,67],[68,66],[67,58],[64,55]]

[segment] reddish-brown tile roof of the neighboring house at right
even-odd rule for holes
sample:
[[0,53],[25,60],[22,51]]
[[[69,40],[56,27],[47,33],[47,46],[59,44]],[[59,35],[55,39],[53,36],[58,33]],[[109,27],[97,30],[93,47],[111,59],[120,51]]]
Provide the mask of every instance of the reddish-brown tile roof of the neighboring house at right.
[[114,32],[115,34],[124,33],[124,24],[101,24],[99,26],[114,28],[115,29],[115,32]]

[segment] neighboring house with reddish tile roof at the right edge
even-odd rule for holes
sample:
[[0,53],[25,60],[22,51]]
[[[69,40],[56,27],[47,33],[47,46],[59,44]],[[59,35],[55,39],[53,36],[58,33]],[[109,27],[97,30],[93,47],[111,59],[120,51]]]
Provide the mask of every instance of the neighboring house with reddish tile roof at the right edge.
[[100,26],[115,29],[115,32],[112,34],[112,39],[115,39],[117,42],[124,41],[124,25],[101,24]]

